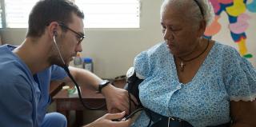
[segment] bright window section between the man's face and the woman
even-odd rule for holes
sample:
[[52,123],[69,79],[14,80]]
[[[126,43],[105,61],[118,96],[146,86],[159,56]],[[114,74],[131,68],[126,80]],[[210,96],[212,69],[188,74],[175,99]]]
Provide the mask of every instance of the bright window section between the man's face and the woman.
[[139,28],[139,0],[76,0],[86,28]]

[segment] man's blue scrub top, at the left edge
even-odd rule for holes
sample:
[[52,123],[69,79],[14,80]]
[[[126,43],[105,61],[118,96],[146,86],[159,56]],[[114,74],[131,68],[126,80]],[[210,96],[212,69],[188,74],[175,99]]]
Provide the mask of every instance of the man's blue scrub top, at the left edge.
[[[45,121],[50,104],[50,81],[67,75],[57,65],[32,75],[28,66],[12,53],[14,48],[0,46],[0,126],[38,127]],[[59,121],[56,125],[62,123]],[[65,123],[62,126],[66,126]]]

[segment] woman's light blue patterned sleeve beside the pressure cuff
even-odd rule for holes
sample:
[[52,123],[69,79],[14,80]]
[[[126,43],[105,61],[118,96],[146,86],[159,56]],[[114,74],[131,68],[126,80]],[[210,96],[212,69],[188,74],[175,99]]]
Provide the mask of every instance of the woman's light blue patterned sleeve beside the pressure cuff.
[[143,51],[134,58],[134,69],[138,77],[141,77],[142,79],[148,77],[150,65],[149,56],[146,51]]

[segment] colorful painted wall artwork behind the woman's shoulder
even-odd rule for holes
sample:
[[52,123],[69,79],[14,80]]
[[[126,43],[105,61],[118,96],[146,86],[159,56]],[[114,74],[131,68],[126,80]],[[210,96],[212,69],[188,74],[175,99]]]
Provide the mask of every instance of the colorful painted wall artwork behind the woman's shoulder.
[[[256,12],[256,0],[209,0],[214,6],[215,18],[214,22],[206,28],[205,37],[212,38],[215,34],[222,29],[228,29],[230,37],[238,47],[238,51],[244,58],[253,58],[254,54],[251,54],[248,50],[247,34],[248,28],[251,24],[248,22],[251,20],[251,14]],[[222,23],[218,22],[222,15],[226,14],[229,22],[228,27],[222,27]],[[255,14],[256,15],[256,14]],[[256,32],[256,31],[254,31]],[[256,38],[256,37],[248,37]],[[254,39],[255,40],[255,39]],[[255,42],[256,43],[256,42]],[[256,50],[256,44],[254,44]]]

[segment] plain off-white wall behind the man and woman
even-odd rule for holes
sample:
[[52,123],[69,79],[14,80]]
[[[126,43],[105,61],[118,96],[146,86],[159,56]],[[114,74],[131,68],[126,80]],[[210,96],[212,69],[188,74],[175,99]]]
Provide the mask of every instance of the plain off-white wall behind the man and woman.
[[[94,60],[94,73],[100,77],[117,77],[125,74],[133,65],[134,57],[142,50],[162,41],[161,26],[159,23],[159,0],[142,0],[141,28],[140,29],[85,29],[86,38],[82,42],[82,56],[91,57]],[[250,33],[247,34],[247,48],[254,58],[250,59],[254,66],[256,57],[255,14],[250,20]],[[226,18],[220,22],[226,22]],[[254,22],[253,22],[254,21]],[[222,23],[223,24],[223,23]],[[227,26],[222,26],[227,28]],[[1,30],[5,43],[19,45],[22,43],[26,30]],[[222,30],[214,39],[236,47],[230,38],[230,33]]]

